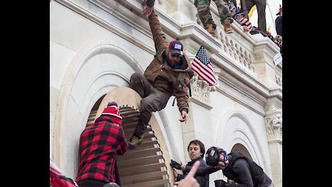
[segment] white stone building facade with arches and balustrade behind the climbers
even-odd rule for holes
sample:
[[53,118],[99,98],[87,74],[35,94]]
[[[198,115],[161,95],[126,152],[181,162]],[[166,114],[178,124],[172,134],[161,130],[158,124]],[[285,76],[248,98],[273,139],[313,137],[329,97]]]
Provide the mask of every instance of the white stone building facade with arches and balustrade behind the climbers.
[[[50,1],[50,158],[68,177],[77,175],[80,134],[102,99],[129,87],[130,75],[143,73],[154,57],[143,5],[142,0]],[[167,42],[180,39],[191,62],[203,45],[218,78],[213,87],[192,79],[186,124],[178,121],[174,96],[154,113],[151,128],[167,171],[163,179],[172,184],[167,161],[190,161],[187,145],[199,139],[205,150],[243,152],[282,187],[282,62],[273,62],[279,48],[268,37],[243,33],[235,21],[234,33],[225,35],[213,2],[210,8],[217,37],[201,26],[194,0],[156,0]],[[223,179],[221,171],[210,175],[210,186],[215,179]]]

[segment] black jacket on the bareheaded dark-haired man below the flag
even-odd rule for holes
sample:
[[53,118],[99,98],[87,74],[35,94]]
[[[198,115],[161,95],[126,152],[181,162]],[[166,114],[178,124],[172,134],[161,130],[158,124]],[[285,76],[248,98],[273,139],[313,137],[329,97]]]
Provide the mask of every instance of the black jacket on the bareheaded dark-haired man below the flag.
[[[185,171],[183,172],[183,175],[178,175],[178,177],[176,178],[176,181],[181,181],[181,179],[184,179],[185,176],[189,173],[190,169],[192,168],[192,165],[194,165],[194,163],[196,161],[200,161],[201,163],[199,164],[199,168],[205,168],[208,166],[208,164],[206,164],[206,162],[203,160],[202,157],[199,157],[197,159],[194,159],[190,162],[187,163],[187,165],[185,166]],[[209,187],[209,173],[207,173],[206,175],[195,175],[194,178],[196,179],[196,181],[199,183],[199,186],[201,187]]]

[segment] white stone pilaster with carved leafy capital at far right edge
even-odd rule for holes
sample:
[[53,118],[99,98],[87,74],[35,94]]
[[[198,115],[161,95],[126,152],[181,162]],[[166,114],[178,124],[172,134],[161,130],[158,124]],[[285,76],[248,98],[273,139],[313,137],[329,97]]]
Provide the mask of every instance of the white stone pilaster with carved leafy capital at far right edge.
[[273,184],[275,187],[282,187],[282,110],[268,112],[265,122]]

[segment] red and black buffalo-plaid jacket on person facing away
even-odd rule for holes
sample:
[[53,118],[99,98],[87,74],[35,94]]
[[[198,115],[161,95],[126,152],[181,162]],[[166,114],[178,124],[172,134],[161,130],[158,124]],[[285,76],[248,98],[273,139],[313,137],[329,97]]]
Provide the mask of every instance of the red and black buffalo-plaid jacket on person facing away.
[[109,115],[100,116],[80,136],[80,166],[75,181],[95,179],[115,182],[118,175],[116,154],[124,154],[127,148],[122,126],[113,123]]

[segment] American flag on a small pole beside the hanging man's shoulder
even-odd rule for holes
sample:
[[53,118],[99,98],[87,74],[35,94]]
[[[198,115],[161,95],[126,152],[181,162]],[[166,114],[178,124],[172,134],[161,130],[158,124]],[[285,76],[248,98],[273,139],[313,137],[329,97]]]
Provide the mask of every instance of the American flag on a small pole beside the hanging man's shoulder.
[[192,70],[199,74],[199,76],[208,82],[210,86],[216,82],[210,58],[206,54],[203,46],[199,48],[199,52],[197,52],[194,62],[192,62]]

